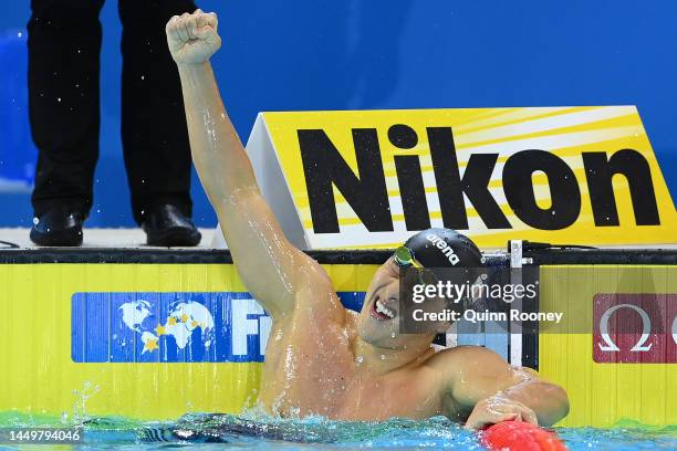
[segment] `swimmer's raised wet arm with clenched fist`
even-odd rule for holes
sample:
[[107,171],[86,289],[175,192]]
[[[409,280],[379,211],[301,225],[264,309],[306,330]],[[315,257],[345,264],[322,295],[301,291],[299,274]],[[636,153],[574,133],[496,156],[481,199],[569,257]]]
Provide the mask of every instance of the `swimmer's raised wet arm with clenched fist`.
[[[184,92],[190,149],[247,290],[273,318],[293,310],[304,287],[332,291],[320,265],[284,237],[263,200],[221,102],[209,59],[219,50],[215,13],[197,10],[167,23],[167,43]],[[303,285],[303,286],[300,286]]]

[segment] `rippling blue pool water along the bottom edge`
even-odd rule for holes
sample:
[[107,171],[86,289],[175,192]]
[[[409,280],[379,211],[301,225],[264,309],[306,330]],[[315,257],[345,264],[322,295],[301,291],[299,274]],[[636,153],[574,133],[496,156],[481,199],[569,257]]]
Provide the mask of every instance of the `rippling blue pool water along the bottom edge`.
[[[0,428],[61,426],[60,420],[0,413]],[[677,426],[643,427],[634,422],[612,429],[556,428],[571,450],[677,449]],[[335,450],[386,448],[448,448],[481,450],[477,434],[446,418],[383,422],[272,419],[261,416],[187,415],[174,422],[138,422],[122,418],[84,421],[84,442],[60,449],[167,450]],[[12,449],[0,445],[0,449]],[[39,445],[35,449],[45,449]]]

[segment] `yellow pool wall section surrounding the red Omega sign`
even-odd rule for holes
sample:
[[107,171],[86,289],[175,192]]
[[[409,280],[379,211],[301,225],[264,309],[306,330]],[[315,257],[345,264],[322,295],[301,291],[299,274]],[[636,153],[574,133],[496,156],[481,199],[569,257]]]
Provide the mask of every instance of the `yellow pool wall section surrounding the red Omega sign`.
[[[541,266],[540,286],[540,311],[564,312],[565,318],[558,328],[541,324],[541,332],[549,332],[539,336],[539,373],[564,387],[571,403],[569,416],[560,426],[610,427],[622,420],[676,424],[677,364],[664,361],[669,361],[670,353],[666,349],[677,339],[671,336],[669,325],[675,318],[667,305],[669,296],[677,293],[677,266]],[[595,359],[595,353],[604,345],[596,336],[602,325],[594,321],[595,298],[600,293],[657,296],[654,301],[657,314],[650,319],[650,331],[655,334],[646,342],[649,346],[631,348],[638,337],[622,329],[619,335],[627,335],[632,343],[616,340],[618,349],[605,349],[611,355],[638,356],[631,361]],[[639,319],[637,312],[629,312],[631,319]],[[618,321],[618,314],[614,321]],[[660,328],[657,318],[668,326]],[[650,358],[652,354],[662,355],[656,359]]]

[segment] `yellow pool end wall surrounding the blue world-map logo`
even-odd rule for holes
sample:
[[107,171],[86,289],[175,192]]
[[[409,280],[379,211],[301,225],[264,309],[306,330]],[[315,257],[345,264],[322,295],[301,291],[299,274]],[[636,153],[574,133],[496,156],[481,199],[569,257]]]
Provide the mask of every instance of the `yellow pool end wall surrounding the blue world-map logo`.
[[[357,291],[377,266],[324,268],[336,290]],[[257,400],[260,363],[77,363],[72,354],[75,293],[244,292],[231,264],[0,264],[0,415],[165,420],[238,413]],[[123,334],[100,326],[87,346]]]

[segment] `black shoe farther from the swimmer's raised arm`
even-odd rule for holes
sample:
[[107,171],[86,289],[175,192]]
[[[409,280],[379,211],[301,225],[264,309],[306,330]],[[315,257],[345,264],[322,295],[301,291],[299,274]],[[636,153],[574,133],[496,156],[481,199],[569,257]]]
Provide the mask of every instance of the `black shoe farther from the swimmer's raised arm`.
[[56,207],[33,218],[31,241],[38,245],[73,247],[82,244],[82,223],[85,214]]

